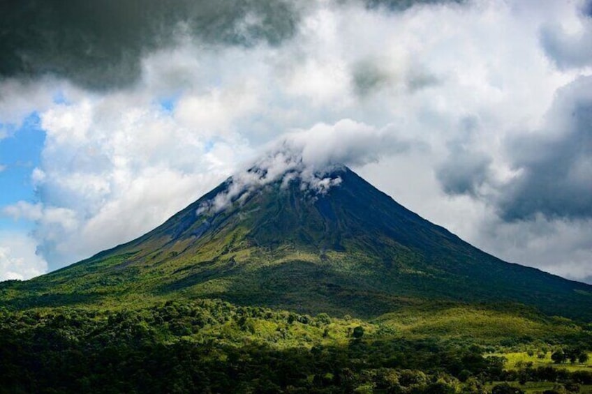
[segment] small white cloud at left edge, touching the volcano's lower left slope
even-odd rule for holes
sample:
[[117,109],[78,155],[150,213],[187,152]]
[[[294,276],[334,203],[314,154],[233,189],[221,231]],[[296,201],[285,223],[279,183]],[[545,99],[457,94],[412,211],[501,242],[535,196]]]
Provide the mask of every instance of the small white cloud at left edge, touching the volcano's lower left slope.
[[0,232],[0,280],[25,280],[47,272],[36,254],[36,241],[18,232]]

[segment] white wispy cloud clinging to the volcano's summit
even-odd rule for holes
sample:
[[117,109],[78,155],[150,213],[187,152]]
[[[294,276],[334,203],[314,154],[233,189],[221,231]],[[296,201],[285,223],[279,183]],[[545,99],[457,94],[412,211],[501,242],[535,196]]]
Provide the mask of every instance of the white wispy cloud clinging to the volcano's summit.
[[390,126],[376,129],[351,119],[334,125],[318,123],[309,130],[289,132],[269,144],[267,152],[229,180],[224,192],[200,206],[197,213],[216,213],[269,183],[283,186],[298,180],[304,191],[324,195],[341,183],[330,174],[342,165],[364,165],[385,154],[406,151],[410,144]]

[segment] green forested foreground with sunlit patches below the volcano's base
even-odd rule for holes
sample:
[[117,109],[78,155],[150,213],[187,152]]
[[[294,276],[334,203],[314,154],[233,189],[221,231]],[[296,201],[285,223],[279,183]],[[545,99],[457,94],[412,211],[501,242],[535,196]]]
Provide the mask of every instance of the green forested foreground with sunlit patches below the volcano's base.
[[512,305],[424,305],[367,321],[206,299],[0,308],[0,391],[592,392],[592,327],[557,319]]

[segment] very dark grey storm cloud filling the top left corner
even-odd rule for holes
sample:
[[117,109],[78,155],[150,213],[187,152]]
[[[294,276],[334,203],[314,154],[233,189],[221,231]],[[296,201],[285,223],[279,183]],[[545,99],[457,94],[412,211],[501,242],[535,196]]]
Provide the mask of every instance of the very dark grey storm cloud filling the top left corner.
[[290,1],[8,0],[0,4],[2,77],[50,73],[91,88],[133,83],[140,72],[140,56],[171,44],[179,31],[205,43],[273,45],[294,33],[298,18]]

